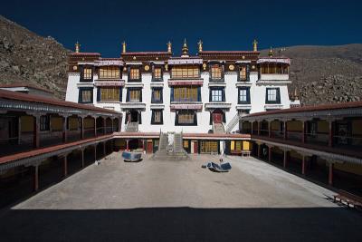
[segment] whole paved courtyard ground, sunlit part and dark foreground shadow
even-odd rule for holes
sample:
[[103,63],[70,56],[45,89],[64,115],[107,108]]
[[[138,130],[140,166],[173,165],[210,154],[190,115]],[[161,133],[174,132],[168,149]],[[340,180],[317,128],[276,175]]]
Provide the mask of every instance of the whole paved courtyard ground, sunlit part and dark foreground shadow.
[[333,192],[253,158],[126,163],[119,153],[0,214],[5,240],[360,241],[362,215]]

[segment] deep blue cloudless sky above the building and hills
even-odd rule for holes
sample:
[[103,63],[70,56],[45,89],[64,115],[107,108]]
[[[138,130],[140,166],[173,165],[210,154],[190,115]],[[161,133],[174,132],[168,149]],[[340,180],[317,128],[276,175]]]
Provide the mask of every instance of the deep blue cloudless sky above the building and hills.
[[[53,3],[52,3],[53,2]],[[184,38],[190,52],[251,50],[300,44],[362,43],[362,1],[4,1],[0,14],[73,49],[117,57],[128,51],[178,54]]]

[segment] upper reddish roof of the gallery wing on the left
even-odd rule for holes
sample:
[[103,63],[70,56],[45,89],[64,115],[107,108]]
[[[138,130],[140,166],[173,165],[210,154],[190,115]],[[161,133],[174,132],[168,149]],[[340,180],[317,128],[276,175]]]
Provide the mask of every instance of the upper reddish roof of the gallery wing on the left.
[[0,99],[6,100],[14,100],[14,101],[23,101],[23,102],[37,102],[37,103],[44,103],[48,105],[55,105],[55,106],[62,106],[66,108],[75,108],[81,110],[90,110],[90,111],[101,111],[106,113],[117,113],[120,114],[118,111],[111,111],[107,109],[97,108],[89,105],[84,105],[76,102],[65,102],[60,100],[55,100],[51,98],[45,98],[38,95],[32,94],[25,94],[21,92],[11,92],[6,90],[0,90]]

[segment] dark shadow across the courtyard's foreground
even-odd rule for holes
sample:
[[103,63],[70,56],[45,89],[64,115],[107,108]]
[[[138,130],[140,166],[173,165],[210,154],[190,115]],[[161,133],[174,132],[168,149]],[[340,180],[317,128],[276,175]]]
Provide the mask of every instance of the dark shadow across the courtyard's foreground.
[[347,208],[13,209],[0,218],[2,241],[360,241],[362,228]]

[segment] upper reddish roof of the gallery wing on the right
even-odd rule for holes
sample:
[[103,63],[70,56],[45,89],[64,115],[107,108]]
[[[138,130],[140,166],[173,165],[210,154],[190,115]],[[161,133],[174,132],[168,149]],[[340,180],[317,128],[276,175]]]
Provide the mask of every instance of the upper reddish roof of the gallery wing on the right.
[[246,117],[255,117],[255,116],[263,116],[263,115],[278,114],[278,113],[281,114],[293,113],[301,111],[328,111],[328,110],[350,109],[350,108],[362,108],[362,102],[330,103],[330,104],[322,104],[316,106],[303,106],[300,108],[291,108],[284,110],[261,111],[261,112],[252,113]]

